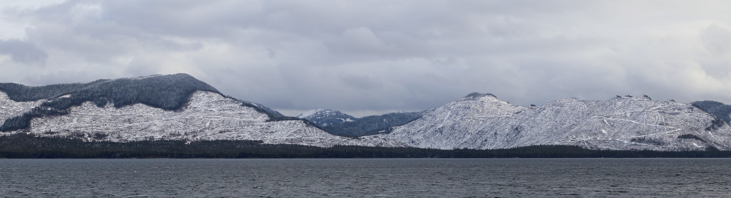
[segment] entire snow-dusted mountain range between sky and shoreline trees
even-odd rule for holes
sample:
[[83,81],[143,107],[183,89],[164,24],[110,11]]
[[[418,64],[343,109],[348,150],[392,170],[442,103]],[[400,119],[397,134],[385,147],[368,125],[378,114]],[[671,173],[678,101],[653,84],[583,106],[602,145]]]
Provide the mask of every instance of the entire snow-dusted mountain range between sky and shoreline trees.
[[284,116],[188,74],[29,87],[0,83],[0,130],[85,141],[262,140],[300,144],[496,149],[731,150],[731,106],[643,96],[516,106],[471,93],[421,112],[355,118],[317,109]]

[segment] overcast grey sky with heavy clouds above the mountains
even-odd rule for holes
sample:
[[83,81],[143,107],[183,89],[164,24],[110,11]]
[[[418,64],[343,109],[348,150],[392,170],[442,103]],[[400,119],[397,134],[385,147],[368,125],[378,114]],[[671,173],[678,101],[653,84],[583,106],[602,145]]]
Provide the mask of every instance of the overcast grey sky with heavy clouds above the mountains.
[[0,1],[0,82],[190,74],[287,116],[731,103],[731,1]]

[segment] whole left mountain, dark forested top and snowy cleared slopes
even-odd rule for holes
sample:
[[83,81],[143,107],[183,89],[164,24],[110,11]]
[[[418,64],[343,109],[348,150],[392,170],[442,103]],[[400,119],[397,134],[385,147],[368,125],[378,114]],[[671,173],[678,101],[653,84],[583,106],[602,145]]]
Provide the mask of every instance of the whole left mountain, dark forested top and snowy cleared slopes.
[[221,95],[187,74],[41,87],[0,84],[0,119],[5,134],[30,132],[83,140],[405,146],[385,138],[330,135],[299,119],[270,121],[270,114],[261,108]]

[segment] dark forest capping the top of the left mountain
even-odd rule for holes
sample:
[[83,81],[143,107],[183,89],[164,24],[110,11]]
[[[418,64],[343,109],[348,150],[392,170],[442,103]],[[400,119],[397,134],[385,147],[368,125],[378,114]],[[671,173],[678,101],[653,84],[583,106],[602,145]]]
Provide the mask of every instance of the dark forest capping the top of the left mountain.
[[[39,87],[0,83],[0,91],[18,102],[48,100],[33,111],[7,119],[0,126],[0,130],[4,132],[25,129],[34,117],[66,114],[68,108],[80,106],[87,101],[99,107],[110,102],[117,108],[143,103],[165,110],[178,110],[189,102],[190,95],[195,91],[220,94],[216,88],[188,74],[137,79],[100,79],[88,83],[51,84]],[[68,97],[58,98],[64,95]]]

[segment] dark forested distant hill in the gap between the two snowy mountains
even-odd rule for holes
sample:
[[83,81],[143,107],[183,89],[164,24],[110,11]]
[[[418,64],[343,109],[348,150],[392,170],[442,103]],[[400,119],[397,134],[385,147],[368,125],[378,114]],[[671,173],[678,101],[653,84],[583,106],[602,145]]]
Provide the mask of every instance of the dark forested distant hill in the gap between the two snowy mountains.
[[396,112],[380,116],[365,116],[353,122],[338,122],[323,126],[322,129],[333,135],[360,137],[390,132],[391,127],[401,126],[420,118],[423,112]]

